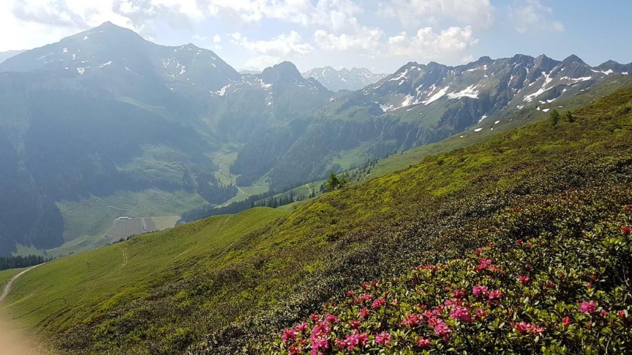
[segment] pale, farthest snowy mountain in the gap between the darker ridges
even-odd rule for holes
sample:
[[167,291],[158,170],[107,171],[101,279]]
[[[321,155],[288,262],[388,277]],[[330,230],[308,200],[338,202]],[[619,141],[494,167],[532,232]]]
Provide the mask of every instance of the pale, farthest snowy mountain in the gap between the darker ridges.
[[374,74],[367,68],[343,68],[336,70],[331,66],[314,68],[303,73],[305,78],[314,78],[332,91],[360,90],[386,77],[386,74]]

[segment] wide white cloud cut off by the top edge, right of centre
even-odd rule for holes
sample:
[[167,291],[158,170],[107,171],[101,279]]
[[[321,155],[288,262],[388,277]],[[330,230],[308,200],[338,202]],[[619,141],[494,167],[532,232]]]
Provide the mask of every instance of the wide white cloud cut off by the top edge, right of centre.
[[380,3],[378,15],[398,18],[406,28],[419,28],[444,19],[489,27],[495,8],[489,0],[392,0]]

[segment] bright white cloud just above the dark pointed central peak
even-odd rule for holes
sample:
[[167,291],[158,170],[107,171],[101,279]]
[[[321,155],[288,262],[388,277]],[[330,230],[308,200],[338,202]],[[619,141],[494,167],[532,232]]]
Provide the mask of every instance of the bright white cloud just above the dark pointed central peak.
[[291,60],[313,52],[312,45],[302,42],[301,36],[291,31],[269,40],[251,41],[239,32],[229,33],[233,44],[240,45],[257,56],[246,62],[246,68],[263,69],[284,60]]

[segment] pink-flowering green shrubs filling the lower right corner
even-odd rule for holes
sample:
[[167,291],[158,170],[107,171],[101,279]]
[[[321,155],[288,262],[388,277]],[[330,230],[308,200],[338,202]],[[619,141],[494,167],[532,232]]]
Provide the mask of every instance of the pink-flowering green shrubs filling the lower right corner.
[[524,236],[388,282],[363,283],[249,350],[631,353],[632,300],[623,267],[632,265],[631,212],[624,205],[576,238],[573,232]]

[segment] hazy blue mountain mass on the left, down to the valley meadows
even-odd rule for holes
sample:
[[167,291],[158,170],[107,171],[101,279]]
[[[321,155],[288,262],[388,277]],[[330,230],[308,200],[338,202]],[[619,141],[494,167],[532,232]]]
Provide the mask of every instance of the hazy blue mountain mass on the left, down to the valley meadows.
[[119,217],[226,202],[241,193],[230,156],[331,97],[291,63],[242,76],[212,51],[109,22],[11,57],[0,64],[0,193],[11,196],[0,255],[94,248],[114,240],[104,236]]

